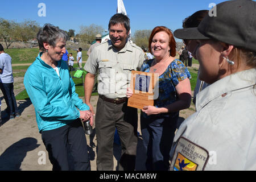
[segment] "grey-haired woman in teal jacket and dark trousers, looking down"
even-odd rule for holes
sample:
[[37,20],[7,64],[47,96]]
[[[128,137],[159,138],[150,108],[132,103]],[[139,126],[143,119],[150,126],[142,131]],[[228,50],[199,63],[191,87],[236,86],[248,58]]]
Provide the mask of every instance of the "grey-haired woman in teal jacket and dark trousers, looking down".
[[69,170],[68,144],[75,170],[90,170],[88,150],[81,120],[93,117],[88,105],[75,92],[65,61],[67,34],[45,24],[38,32],[40,52],[24,76],[24,85],[35,107],[36,122],[42,134],[53,170]]

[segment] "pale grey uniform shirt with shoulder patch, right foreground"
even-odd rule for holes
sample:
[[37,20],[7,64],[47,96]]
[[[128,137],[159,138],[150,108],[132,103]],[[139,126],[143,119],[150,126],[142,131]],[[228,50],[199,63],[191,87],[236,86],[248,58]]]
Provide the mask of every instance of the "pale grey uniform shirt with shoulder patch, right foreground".
[[179,127],[171,170],[256,170],[256,69],[226,76],[196,97]]

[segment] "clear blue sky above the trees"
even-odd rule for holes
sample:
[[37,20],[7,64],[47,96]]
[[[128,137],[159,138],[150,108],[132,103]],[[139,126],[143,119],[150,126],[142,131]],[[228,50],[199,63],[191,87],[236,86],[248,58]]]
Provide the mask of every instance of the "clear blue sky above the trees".
[[[116,13],[117,0],[0,0],[0,18],[23,22],[35,20],[43,26],[51,23],[68,31],[94,23],[108,29],[110,17]],[[171,30],[181,28],[182,20],[198,10],[209,10],[210,3],[221,0],[123,0],[131,20],[131,32],[152,30],[156,26],[167,26]],[[46,5],[46,16],[39,17],[39,3]]]

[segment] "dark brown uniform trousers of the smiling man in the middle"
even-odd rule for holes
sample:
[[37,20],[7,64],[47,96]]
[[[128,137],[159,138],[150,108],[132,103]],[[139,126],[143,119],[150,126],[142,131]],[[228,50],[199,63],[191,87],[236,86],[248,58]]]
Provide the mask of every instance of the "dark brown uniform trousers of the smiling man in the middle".
[[116,128],[122,146],[118,170],[134,170],[138,142],[137,109],[128,107],[127,102],[112,104],[99,97],[95,119],[98,148],[97,169],[113,171],[113,142]]

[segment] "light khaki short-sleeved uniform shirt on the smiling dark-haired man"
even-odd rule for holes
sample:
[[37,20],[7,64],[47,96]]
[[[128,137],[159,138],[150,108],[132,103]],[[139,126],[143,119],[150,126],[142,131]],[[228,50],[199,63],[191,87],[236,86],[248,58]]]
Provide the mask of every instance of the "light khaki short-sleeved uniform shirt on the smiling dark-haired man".
[[126,97],[131,71],[139,70],[144,60],[144,52],[135,44],[127,42],[122,50],[116,51],[109,40],[94,47],[84,69],[93,75],[98,69],[99,94],[122,98]]

